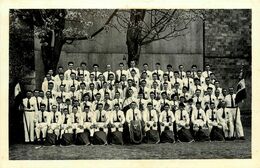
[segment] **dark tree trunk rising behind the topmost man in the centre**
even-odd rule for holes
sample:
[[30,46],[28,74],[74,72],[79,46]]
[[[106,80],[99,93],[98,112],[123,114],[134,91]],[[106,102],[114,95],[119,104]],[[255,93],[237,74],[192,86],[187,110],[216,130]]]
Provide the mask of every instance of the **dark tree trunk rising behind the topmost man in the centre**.
[[140,22],[144,21],[145,9],[132,9],[130,13],[130,24],[127,28],[126,34],[126,45],[128,50],[128,66],[130,66],[131,61],[139,62],[140,52],[141,52],[141,33],[142,24]]

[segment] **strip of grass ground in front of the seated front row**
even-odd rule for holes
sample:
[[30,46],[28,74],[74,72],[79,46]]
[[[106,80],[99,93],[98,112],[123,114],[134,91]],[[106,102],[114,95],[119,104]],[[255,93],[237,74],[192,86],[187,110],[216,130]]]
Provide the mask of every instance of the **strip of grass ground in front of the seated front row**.
[[15,144],[9,148],[10,160],[77,159],[246,159],[251,158],[251,129],[245,141],[194,142],[108,146],[48,146]]

